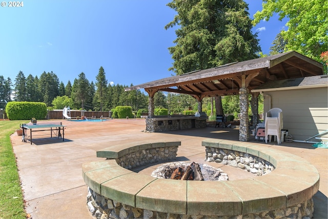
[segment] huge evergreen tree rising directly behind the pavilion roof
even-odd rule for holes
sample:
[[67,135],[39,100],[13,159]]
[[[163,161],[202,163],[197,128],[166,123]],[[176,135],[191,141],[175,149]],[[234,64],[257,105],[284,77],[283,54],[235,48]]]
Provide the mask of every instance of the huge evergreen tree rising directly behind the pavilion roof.
[[[257,57],[260,47],[244,1],[173,0],[168,6],[177,15],[165,28],[180,26],[169,48],[174,60],[169,70],[179,75]],[[220,96],[215,102],[216,112],[223,113]]]

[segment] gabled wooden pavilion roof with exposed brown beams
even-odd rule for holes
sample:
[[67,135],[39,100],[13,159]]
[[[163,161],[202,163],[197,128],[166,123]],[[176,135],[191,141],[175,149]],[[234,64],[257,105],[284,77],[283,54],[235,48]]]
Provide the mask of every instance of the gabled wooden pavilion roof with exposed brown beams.
[[251,91],[270,81],[321,74],[321,63],[291,51],[158,79],[128,87],[126,91],[144,88],[150,96],[160,90],[190,94],[202,99],[205,96],[238,94],[243,75]]

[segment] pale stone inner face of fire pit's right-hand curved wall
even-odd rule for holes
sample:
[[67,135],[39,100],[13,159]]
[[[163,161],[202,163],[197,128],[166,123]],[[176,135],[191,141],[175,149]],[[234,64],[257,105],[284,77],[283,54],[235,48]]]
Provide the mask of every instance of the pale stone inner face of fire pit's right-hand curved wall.
[[274,170],[274,166],[271,163],[264,161],[260,157],[221,148],[206,147],[205,161],[238,167],[258,176],[268,174]]

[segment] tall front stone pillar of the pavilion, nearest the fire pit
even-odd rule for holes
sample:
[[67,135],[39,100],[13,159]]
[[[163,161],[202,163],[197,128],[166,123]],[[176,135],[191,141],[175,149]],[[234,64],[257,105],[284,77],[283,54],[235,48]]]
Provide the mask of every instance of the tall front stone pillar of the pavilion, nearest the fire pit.
[[249,141],[249,131],[248,131],[248,89],[242,87],[239,89],[239,106],[240,106],[240,125],[239,125],[239,141],[247,142]]

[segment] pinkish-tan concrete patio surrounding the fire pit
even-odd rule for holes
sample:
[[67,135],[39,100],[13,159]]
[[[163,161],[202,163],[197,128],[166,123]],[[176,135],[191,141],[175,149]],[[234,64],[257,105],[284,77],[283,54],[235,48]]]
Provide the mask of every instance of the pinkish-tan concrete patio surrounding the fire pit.
[[[58,121],[57,121],[58,122]],[[205,138],[238,140],[238,130],[229,128],[201,128],[172,132],[147,133],[145,120],[110,120],[106,122],[60,121],[66,125],[65,141],[57,138],[33,139],[33,145],[22,142],[21,136],[13,134],[11,141],[17,157],[26,212],[37,218],[92,218],[86,205],[87,186],[82,178],[83,163],[101,161],[96,151],[125,142],[136,141],[181,141],[177,157],[180,160],[204,162]],[[40,121],[51,123],[51,121]],[[314,196],[314,218],[327,218],[328,196],[328,150],[314,148],[311,144],[276,142],[265,144],[251,142],[263,147],[272,147],[293,153],[312,163],[320,173],[319,192]],[[105,147],[104,147],[105,146]],[[214,166],[213,163],[210,165]],[[215,165],[229,174],[229,179],[249,177],[249,173],[235,168]],[[154,167],[140,171],[148,174]],[[288,183],[288,182],[284,182]]]

